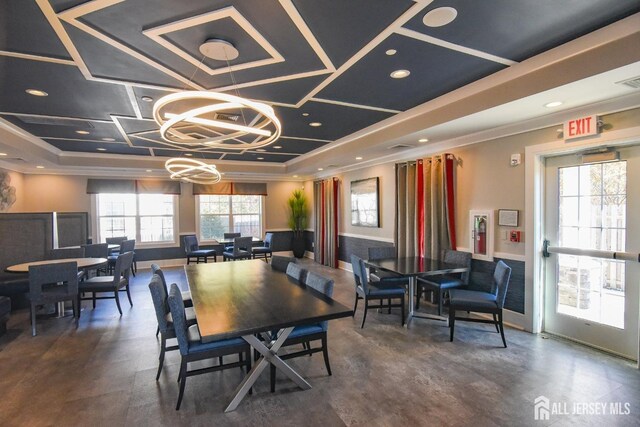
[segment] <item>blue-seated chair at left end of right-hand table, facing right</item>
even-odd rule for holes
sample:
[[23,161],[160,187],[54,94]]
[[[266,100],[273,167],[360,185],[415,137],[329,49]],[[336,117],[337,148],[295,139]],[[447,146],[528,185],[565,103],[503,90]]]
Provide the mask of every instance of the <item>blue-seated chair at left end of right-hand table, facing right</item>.
[[[404,294],[406,292],[404,286],[385,286],[377,287],[369,282],[367,277],[367,269],[362,258],[351,255],[351,267],[353,268],[353,278],[356,288],[356,302],[353,306],[353,315],[358,308],[358,300],[364,299],[364,315],[362,316],[361,328],[364,328],[364,322],[367,319],[367,311],[370,308],[400,307],[401,325],[404,325]],[[383,300],[400,299],[399,303],[383,305]],[[370,300],[378,300],[378,305],[370,305]]]

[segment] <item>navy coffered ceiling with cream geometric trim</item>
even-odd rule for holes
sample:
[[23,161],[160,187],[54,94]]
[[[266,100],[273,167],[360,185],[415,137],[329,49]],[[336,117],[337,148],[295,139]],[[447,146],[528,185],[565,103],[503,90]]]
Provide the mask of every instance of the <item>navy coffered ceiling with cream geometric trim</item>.
[[[5,0],[0,126],[60,165],[147,167],[186,153],[160,137],[154,101],[216,90],[272,105],[282,137],[189,154],[283,171],[639,11],[640,0]],[[208,39],[238,58],[203,58]]]

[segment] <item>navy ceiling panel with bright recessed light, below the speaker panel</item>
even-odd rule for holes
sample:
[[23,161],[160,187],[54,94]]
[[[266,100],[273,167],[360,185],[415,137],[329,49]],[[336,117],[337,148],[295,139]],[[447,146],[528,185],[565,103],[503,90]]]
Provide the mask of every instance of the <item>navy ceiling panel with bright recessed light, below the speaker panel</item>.
[[[388,56],[388,49],[397,53]],[[496,62],[394,34],[319,97],[404,111],[503,68]],[[411,74],[404,79],[391,78],[398,69]]]

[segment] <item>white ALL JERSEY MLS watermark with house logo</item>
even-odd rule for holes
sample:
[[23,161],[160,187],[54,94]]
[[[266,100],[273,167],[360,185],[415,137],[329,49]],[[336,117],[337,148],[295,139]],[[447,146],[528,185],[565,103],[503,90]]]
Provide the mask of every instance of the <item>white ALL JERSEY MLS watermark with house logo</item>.
[[629,415],[629,402],[552,402],[546,396],[533,399],[533,419],[547,421],[551,416]]

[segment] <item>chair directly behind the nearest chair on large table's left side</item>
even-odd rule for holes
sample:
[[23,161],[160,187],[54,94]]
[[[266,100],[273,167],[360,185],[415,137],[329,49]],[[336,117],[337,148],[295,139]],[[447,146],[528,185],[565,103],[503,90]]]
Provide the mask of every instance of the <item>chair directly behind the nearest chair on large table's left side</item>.
[[[167,347],[167,340],[176,338],[175,331],[173,329],[173,316],[169,311],[169,301],[167,294],[166,284],[163,283],[164,279],[159,274],[151,276],[151,282],[149,282],[149,291],[151,292],[151,299],[153,300],[153,307],[156,312],[156,320],[158,321],[158,332],[160,335],[160,356],[158,362],[158,372],[156,374],[156,381],[160,378],[162,372],[162,366],[164,365],[164,354],[167,351],[178,350],[178,346]],[[185,309],[185,318],[188,325],[196,323],[196,314],[193,308]],[[156,336],[158,333],[156,333]]]

